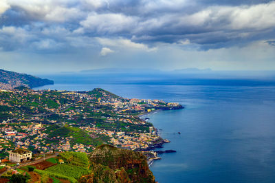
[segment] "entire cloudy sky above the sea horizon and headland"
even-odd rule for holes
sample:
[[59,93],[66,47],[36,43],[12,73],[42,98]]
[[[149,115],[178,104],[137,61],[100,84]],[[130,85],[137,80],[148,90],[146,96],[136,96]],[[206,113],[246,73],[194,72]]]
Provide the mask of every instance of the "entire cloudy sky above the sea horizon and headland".
[[0,67],[275,70],[275,1],[0,0]]

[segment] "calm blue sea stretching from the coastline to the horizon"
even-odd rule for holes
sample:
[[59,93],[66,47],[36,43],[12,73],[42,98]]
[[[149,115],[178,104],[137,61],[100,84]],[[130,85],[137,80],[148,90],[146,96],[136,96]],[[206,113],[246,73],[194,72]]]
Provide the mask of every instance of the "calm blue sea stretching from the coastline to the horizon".
[[[48,77],[49,78],[49,77]],[[82,82],[54,78],[39,89],[102,87],[127,98],[177,102],[186,109],[159,111],[150,122],[171,142],[150,167],[158,182],[275,182],[275,86],[243,80],[175,83]],[[109,79],[111,80],[111,79]],[[136,82],[136,80],[135,80]],[[187,81],[186,81],[187,82]],[[220,83],[220,84],[219,84]],[[234,85],[234,83],[237,83]],[[245,83],[249,83],[248,85]],[[179,135],[180,132],[181,134]]]

